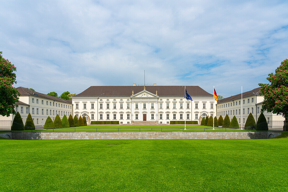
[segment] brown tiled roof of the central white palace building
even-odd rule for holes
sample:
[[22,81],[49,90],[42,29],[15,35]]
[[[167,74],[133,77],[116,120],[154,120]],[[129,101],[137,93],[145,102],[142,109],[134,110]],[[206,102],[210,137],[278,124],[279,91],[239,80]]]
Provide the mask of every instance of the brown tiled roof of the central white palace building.
[[[130,97],[134,94],[143,91],[143,86],[91,86],[75,97]],[[158,96],[182,96],[184,97],[184,86],[146,86],[146,90]],[[186,90],[190,96],[213,96],[199,86],[186,86]],[[104,95],[103,95],[104,94]]]

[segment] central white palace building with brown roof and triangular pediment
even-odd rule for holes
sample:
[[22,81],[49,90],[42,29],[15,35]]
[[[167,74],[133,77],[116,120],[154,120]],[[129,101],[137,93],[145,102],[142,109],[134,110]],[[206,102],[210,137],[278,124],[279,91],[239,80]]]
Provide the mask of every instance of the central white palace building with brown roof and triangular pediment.
[[[184,86],[91,86],[72,97],[74,114],[91,121],[165,123],[198,121],[213,116],[213,95],[199,86],[186,86],[193,101],[184,98]],[[186,109],[184,109],[186,108]]]

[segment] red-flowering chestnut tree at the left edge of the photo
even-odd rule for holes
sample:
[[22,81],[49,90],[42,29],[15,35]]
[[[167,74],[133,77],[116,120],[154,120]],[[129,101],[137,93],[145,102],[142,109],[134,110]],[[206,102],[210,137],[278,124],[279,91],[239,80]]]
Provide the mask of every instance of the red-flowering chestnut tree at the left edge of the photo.
[[15,102],[19,101],[20,93],[12,85],[16,82],[16,71],[14,64],[2,57],[0,52],[0,115],[9,117],[16,114]]

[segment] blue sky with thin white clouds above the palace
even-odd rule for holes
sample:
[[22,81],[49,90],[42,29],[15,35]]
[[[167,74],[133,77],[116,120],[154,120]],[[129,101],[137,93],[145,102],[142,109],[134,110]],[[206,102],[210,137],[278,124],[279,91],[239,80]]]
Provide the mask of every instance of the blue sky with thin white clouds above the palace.
[[198,85],[228,97],[288,56],[287,1],[3,1],[0,51],[17,84]]

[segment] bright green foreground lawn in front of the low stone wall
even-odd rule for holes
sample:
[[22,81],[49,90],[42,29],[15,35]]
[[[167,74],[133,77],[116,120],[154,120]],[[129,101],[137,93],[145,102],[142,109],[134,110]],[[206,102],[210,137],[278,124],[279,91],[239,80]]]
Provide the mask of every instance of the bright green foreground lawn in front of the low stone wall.
[[0,191],[288,191],[287,146],[285,136],[0,140]]

